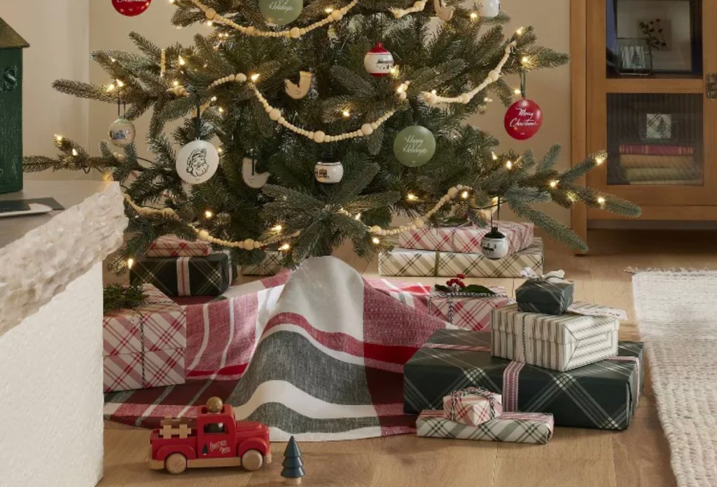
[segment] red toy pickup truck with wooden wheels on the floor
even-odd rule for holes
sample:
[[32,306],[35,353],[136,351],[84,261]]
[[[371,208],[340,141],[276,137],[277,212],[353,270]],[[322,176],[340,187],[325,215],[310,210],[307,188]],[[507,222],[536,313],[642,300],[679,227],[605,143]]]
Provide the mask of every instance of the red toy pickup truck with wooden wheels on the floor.
[[201,407],[194,424],[166,418],[149,443],[149,467],[175,475],[203,467],[243,466],[255,471],[271,463],[267,425],[237,421],[232,407],[218,397]]

